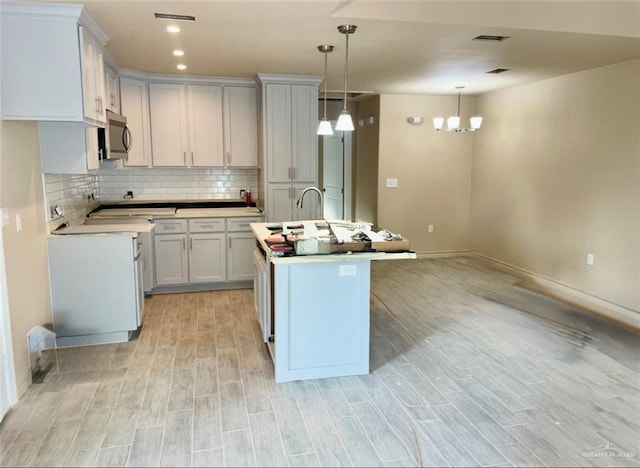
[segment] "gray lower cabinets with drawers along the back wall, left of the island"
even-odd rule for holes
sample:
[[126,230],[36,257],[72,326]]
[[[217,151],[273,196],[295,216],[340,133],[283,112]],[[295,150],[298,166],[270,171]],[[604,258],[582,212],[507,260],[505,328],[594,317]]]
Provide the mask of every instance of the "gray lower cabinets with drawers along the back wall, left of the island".
[[251,281],[255,218],[158,219],[156,286]]

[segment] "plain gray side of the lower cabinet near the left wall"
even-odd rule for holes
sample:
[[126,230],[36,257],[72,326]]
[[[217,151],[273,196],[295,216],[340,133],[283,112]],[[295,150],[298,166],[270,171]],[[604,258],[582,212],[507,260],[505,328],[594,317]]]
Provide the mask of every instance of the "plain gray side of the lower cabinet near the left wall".
[[119,233],[47,239],[58,347],[125,342],[141,324],[136,242]]

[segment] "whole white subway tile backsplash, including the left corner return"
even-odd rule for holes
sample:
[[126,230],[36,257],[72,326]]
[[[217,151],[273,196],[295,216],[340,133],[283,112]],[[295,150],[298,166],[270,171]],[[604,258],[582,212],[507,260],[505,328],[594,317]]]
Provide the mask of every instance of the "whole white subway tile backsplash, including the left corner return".
[[[258,193],[258,169],[141,168],[100,169],[94,174],[44,174],[49,227],[64,216],[80,224],[96,201],[122,200],[128,191],[137,200],[237,199],[240,190]],[[93,196],[93,198],[92,198]],[[59,207],[62,215],[53,212]]]

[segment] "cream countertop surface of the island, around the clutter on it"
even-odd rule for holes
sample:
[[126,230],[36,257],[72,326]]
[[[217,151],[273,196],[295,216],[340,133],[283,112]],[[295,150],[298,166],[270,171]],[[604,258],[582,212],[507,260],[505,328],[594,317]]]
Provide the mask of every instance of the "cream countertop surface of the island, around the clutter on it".
[[[400,260],[417,258],[415,252],[345,252],[320,255],[294,255],[277,256],[273,255],[266,239],[274,233],[267,229],[267,226],[284,224],[285,226],[297,226],[302,224],[306,232],[317,230],[316,223],[325,223],[323,220],[309,221],[285,221],[284,223],[251,223],[251,231],[260,242],[263,250],[269,256],[271,263],[318,263],[318,262],[353,262],[356,260]],[[275,234],[280,234],[275,233]]]

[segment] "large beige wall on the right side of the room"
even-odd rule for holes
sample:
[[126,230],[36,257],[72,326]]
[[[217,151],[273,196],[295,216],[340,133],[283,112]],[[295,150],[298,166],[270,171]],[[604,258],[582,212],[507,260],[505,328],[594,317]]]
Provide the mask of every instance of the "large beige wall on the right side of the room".
[[478,99],[475,251],[640,310],[639,83],[634,60]]

